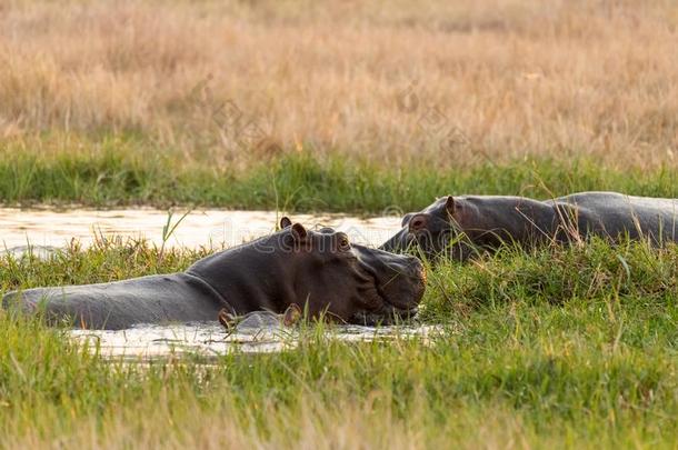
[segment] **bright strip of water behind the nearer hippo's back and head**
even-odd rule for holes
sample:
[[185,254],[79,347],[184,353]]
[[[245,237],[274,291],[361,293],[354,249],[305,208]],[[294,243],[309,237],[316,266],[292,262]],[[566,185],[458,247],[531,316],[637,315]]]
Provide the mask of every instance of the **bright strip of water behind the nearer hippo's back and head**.
[[[177,211],[173,221],[180,217],[181,211]],[[159,246],[167,218],[167,211],[146,208],[106,211],[0,208],[0,248],[20,252],[30,243],[49,249],[63,247],[72,238],[88,244],[96,233],[146,238]],[[270,233],[279,218],[273,211],[196,210],[179,224],[167,246],[231,247]],[[400,217],[292,214],[291,218],[309,228],[337,228],[353,241],[372,246],[381,244],[400,228]]]

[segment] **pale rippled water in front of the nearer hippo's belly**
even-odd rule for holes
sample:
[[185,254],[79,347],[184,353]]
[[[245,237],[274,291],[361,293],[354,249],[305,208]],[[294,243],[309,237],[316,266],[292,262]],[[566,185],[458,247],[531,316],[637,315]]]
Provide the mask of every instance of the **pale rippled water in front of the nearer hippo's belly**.
[[[252,314],[256,317],[257,314]],[[216,357],[238,351],[246,353],[279,352],[293,349],[299,342],[299,329],[280,326],[271,316],[241,322],[227,331],[218,322],[177,326],[139,326],[120,331],[72,330],[78,342],[98,344],[101,356],[112,359],[144,360],[181,354]],[[262,326],[253,326],[263,323]],[[435,326],[359,327],[331,326],[327,336],[340,341],[392,340],[418,337],[427,340],[442,330]]]

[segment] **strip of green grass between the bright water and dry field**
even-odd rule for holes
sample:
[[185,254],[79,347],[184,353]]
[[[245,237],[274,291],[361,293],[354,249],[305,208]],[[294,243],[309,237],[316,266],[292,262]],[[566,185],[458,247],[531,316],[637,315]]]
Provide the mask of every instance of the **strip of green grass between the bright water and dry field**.
[[518,160],[502,166],[478,162],[457,168],[445,164],[441,154],[439,163],[385,167],[346,159],[339,152],[316,156],[308,148],[270,160],[217,164],[185,161],[178,151],[159,151],[133,138],[56,147],[56,151],[33,151],[26,143],[0,143],[1,203],[382,213],[418,210],[447,193],[550,198],[582,190],[617,190],[678,197],[675,170],[606,169],[594,159]]

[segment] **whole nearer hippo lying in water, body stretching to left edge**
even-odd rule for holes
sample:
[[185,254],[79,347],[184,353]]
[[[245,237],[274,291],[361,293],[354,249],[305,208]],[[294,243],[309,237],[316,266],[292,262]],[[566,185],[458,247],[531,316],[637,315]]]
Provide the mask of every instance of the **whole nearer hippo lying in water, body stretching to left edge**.
[[13,291],[2,306],[43,311],[50,324],[106,330],[216,321],[226,312],[283,313],[292,304],[309,318],[360,324],[416,313],[426,277],[417,258],[352,243],[329,228],[307,230],[288,218],[280,228],[200,259],[183,272]]

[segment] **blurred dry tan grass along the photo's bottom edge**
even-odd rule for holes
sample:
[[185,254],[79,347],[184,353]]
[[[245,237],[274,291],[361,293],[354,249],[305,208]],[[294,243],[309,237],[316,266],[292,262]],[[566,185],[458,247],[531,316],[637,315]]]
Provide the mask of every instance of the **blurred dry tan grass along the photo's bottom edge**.
[[[6,437],[3,444],[26,449],[508,450],[528,449],[535,440],[535,431],[526,429],[518,414],[503,407],[482,411],[483,416],[479,411],[460,411],[452,413],[449,422],[427,428],[417,419],[426,416],[425,411],[401,420],[383,408],[375,408],[369,400],[366,404],[338,402],[328,408],[310,399],[295,410],[267,406],[266,426],[261,427],[253,423],[253,417],[237,410],[205,411],[189,404],[177,414],[160,401],[101,421],[86,420],[61,438],[54,439],[58,433],[53,433],[46,439],[37,428]],[[542,443],[564,447],[558,439],[562,437],[545,437]],[[585,442],[577,443],[586,448]]]

